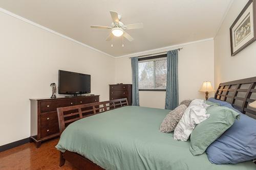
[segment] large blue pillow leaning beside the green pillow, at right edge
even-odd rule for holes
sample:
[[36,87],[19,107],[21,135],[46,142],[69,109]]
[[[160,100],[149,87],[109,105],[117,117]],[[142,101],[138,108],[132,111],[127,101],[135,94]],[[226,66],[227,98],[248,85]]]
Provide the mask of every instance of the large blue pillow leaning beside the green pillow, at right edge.
[[209,161],[215,164],[256,159],[256,120],[241,113],[240,119],[211,143],[206,153]]

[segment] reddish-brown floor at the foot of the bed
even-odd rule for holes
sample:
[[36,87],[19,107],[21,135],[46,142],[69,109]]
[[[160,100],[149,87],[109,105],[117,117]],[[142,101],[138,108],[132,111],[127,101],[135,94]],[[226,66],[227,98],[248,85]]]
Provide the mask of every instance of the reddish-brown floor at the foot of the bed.
[[0,169],[73,169],[77,170],[68,161],[59,167],[59,151],[55,148],[58,138],[42,142],[40,148],[35,143],[26,143],[19,147],[0,152]]

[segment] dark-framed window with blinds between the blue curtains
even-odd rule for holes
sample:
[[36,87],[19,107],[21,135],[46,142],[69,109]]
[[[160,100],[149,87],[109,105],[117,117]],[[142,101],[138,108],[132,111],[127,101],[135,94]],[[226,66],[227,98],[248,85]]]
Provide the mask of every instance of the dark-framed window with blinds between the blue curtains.
[[139,59],[139,90],[165,91],[167,76],[166,54]]

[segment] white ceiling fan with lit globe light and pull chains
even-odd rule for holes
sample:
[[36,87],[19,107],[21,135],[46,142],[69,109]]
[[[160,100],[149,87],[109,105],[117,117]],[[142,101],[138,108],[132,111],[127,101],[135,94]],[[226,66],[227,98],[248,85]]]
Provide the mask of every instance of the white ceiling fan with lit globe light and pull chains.
[[[143,28],[143,23],[132,23],[129,25],[124,25],[120,20],[121,20],[121,15],[118,14],[115,11],[110,11],[110,15],[112,17],[112,24],[111,26],[94,26],[91,25],[91,28],[97,28],[97,29],[111,29],[111,33],[109,36],[106,38],[106,41],[113,41],[113,35],[116,37],[123,36],[129,41],[133,41],[133,37],[126,33],[124,30],[132,30],[132,29],[141,29]],[[113,43],[111,43],[111,46],[113,46]],[[122,44],[123,46],[123,44]]]

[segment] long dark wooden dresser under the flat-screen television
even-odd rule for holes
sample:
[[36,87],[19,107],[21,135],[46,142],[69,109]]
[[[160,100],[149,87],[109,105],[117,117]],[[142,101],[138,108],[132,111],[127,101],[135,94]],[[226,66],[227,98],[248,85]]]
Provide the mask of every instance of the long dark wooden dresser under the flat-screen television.
[[41,141],[59,136],[57,108],[99,102],[99,95],[81,95],[68,98],[30,99],[31,141],[39,148]]

